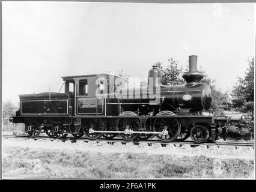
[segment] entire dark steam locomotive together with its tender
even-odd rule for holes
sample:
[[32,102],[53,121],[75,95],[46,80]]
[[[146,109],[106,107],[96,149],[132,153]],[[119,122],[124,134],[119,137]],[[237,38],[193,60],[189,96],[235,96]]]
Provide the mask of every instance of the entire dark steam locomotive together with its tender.
[[[94,140],[99,137],[123,140],[156,137],[162,142],[185,140],[196,143],[212,139],[227,117],[204,115],[212,103],[211,86],[200,83],[197,56],[189,56],[185,85],[161,85],[157,65],[148,72],[148,86],[124,87],[126,79],[111,74],[62,77],[64,93],[43,92],[19,95],[20,109],[13,123],[25,124],[30,137],[41,131],[63,138],[70,133]],[[207,113],[208,114],[208,113]]]

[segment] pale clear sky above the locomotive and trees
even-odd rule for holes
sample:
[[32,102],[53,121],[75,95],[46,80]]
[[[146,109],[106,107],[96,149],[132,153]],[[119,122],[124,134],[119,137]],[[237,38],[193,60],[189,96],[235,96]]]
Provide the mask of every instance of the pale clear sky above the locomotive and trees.
[[254,20],[254,4],[2,2],[2,100],[58,92],[62,76],[186,68],[189,55],[228,91],[255,54]]

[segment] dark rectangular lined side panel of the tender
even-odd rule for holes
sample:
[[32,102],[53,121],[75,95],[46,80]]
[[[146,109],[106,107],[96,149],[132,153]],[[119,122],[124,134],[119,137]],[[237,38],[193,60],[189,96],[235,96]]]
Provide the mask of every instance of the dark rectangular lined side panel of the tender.
[[66,115],[67,100],[20,101],[21,115]]

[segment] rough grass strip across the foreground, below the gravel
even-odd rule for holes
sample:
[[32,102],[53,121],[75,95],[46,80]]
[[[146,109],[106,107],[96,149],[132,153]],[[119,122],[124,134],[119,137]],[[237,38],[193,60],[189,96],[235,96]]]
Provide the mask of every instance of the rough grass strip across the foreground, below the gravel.
[[4,178],[253,178],[254,161],[3,148]]

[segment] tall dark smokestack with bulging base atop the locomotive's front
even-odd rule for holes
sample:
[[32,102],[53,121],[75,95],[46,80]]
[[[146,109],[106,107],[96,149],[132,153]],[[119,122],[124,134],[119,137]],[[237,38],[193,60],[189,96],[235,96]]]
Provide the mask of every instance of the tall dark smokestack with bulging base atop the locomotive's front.
[[203,79],[204,74],[197,71],[197,55],[189,56],[189,71],[184,72],[182,77],[186,80],[187,86],[197,85]]

